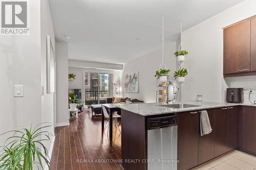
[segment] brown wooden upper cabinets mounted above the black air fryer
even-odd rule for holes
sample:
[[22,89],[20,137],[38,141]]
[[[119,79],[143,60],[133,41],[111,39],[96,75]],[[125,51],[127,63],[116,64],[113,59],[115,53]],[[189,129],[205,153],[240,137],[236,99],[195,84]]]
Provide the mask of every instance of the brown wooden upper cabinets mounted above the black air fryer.
[[256,75],[256,18],[241,21],[223,31],[223,75]]

